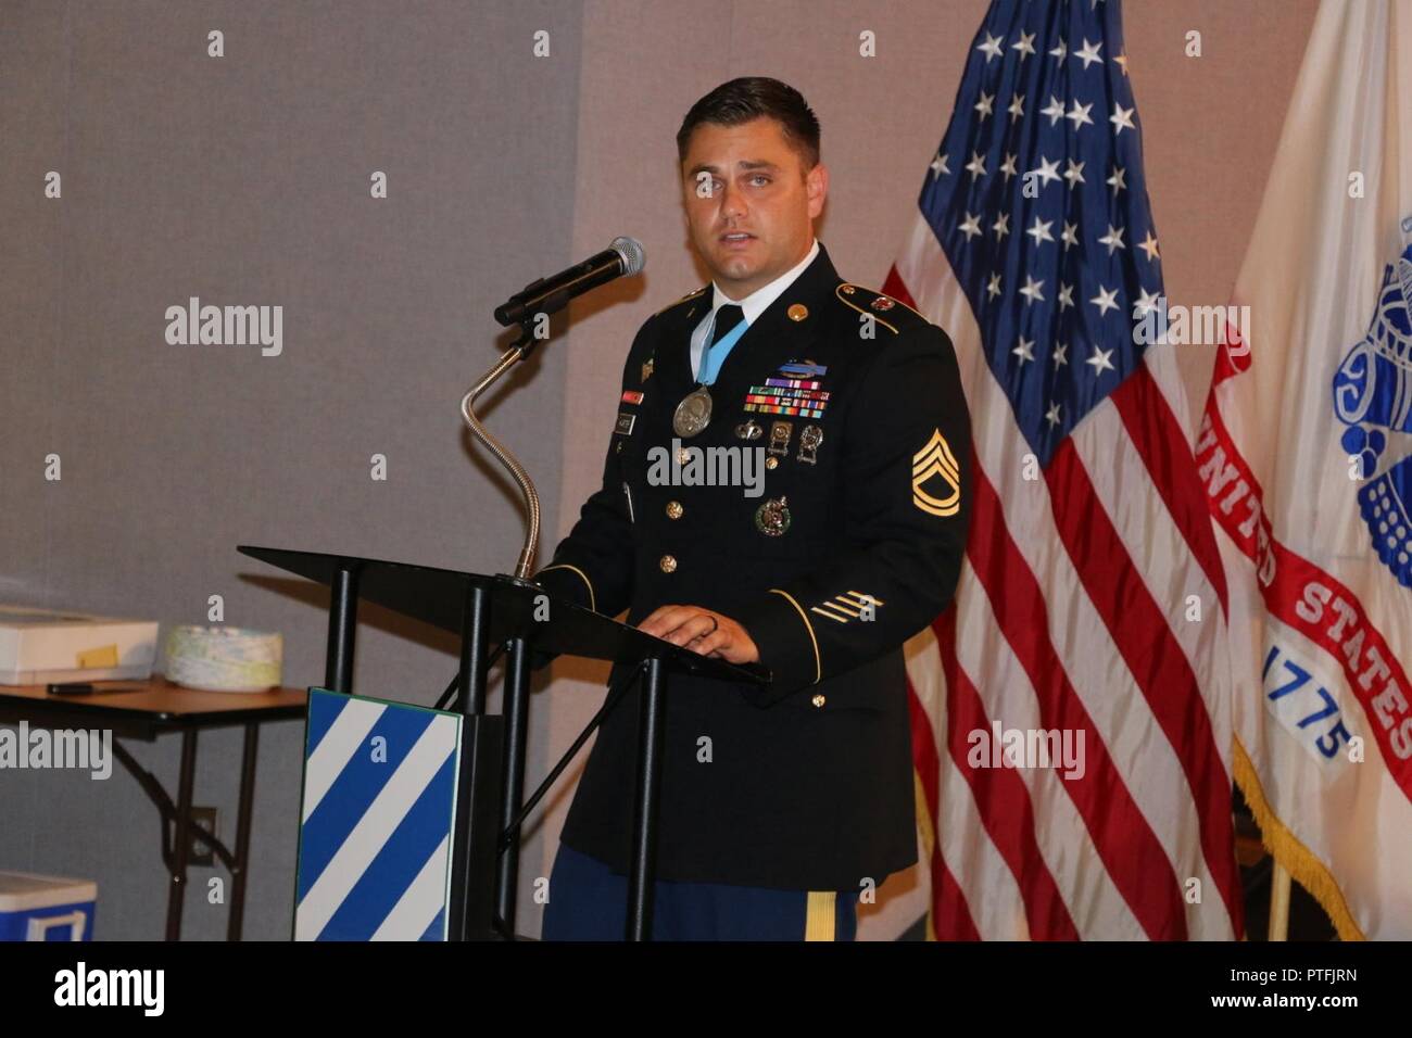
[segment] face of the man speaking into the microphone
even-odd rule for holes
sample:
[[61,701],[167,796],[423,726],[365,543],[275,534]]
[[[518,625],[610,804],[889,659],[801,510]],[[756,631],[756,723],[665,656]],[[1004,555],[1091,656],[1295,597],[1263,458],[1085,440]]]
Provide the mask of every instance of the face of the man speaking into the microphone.
[[829,171],[805,172],[775,119],[702,123],[682,162],[692,243],[731,299],[743,299],[796,266],[813,243]]

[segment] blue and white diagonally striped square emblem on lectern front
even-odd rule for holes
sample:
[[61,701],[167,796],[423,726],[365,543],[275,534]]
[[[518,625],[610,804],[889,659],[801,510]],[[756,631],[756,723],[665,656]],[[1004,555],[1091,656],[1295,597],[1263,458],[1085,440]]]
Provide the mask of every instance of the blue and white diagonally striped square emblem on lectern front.
[[295,941],[445,941],[460,717],[309,691]]

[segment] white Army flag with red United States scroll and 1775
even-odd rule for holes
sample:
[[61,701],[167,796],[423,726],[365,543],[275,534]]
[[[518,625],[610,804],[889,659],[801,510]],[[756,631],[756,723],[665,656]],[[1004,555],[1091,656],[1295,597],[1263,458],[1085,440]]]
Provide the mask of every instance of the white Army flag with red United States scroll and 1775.
[[1412,0],[1324,0],[1233,302],[1236,778],[1344,939],[1412,938]]

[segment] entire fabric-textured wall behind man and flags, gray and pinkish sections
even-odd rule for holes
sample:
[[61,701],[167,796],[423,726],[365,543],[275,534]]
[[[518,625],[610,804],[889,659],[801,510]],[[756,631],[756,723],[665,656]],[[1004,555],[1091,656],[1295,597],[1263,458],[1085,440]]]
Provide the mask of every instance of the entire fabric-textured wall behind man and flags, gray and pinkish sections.
[[[1130,68],[1175,304],[1227,301],[1315,0],[1128,0]],[[840,273],[878,285],[909,226],[986,0],[573,3],[20,3],[0,0],[0,600],[285,634],[285,679],[322,678],[322,599],[237,542],[510,568],[505,482],[459,426],[497,352],[496,297],[628,233],[644,278],[572,309],[572,333],[501,398],[493,425],[539,476],[545,551],[600,472],[623,350],[703,281],[686,249],[674,143],[736,75],[799,86],[823,123],[819,225]],[[206,55],[206,32],[226,56]],[[551,55],[532,56],[546,30]],[[877,56],[858,56],[858,34]],[[1186,56],[1185,34],[1204,56]],[[42,196],[64,174],[62,201]],[[388,174],[390,198],[369,198]],[[280,357],[167,346],[189,295],[281,304]],[[1210,354],[1182,357],[1193,410]],[[62,456],[64,479],[42,477]],[[369,456],[390,479],[369,479]],[[428,702],[453,645],[364,613],[359,691]],[[542,774],[602,702],[600,671],[556,665],[537,696]],[[247,933],[292,901],[298,724],[265,730]],[[202,743],[198,799],[234,809],[239,737]],[[176,744],[138,746],[175,780]],[[524,850],[546,876],[576,772]],[[95,787],[0,772],[0,869],[97,878],[99,935],[158,938],[155,812],[126,775]],[[198,870],[193,885],[215,873]],[[899,874],[860,935],[898,932]],[[223,935],[188,900],[186,936]],[[915,918],[915,917],[914,917]]]

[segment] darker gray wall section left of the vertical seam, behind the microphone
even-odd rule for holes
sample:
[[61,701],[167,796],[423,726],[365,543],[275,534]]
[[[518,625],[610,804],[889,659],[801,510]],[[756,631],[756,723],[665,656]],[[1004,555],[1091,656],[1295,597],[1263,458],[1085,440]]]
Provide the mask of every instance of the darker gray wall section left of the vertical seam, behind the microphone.
[[[500,294],[568,266],[573,4],[0,4],[0,600],[280,630],[323,675],[326,596],[240,542],[505,571],[510,487],[462,431]],[[206,56],[225,32],[226,56]],[[531,34],[551,32],[534,58]],[[44,177],[62,174],[62,199]],[[385,171],[388,198],[370,198]],[[284,306],[284,350],[167,345],[188,297]],[[558,510],[563,345],[491,410]],[[58,453],[62,480],[44,479]],[[388,477],[370,477],[370,456]],[[491,463],[493,465],[493,463]],[[431,702],[455,645],[366,610],[356,688]],[[264,729],[246,932],[292,908],[302,726]],[[240,739],[201,740],[234,828]],[[178,743],[137,744],[175,788]],[[97,933],[162,935],[137,784],[0,772],[0,869],[96,878]],[[212,870],[196,870],[202,887]],[[189,895],[185,936],[222,938]]]

